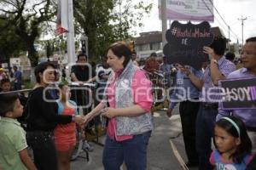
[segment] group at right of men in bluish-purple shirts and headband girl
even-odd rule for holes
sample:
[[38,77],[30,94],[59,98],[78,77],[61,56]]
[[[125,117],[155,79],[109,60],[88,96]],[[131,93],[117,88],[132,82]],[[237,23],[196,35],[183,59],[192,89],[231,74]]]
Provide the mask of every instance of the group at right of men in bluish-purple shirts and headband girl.
[[[230,78],[255,77],[256,37],[247,39],[241,50],[243,67],[237,71],[232,62],[234,58],[230,59],[228,54],[225,59],[225,48],[225,39],[218,37],[204,48],[210,63],[202,72],[195,71],[189,65],[176,65],[177,79],[174,86],[178,88],[172,91],[166,114],[172,116],[178,98],[188,167],[198,167],[200,170],[213,167],[246,169],[255,154],[255,108],[223,110],[218,104],[221,98],[218,82]],[[189,93],[184,94],[183,89]],[[235,132],[231,132],[230,128]],[[213,152],[212,139],[216,146]]]

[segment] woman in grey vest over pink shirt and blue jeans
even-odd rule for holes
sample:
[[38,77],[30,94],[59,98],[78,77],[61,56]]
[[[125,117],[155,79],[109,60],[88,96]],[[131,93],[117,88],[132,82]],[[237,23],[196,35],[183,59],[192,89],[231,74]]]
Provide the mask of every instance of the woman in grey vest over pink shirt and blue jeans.
[[107,57],[114,73],[108,79],[106,98],[85,118],[90,121],[102,114],[108,119],[102,158],[105,170],[119,169],[123,162],[128,169],[145,170],[153,130],[152,83],[133,65],[131,50],[124,42],[113,43]]

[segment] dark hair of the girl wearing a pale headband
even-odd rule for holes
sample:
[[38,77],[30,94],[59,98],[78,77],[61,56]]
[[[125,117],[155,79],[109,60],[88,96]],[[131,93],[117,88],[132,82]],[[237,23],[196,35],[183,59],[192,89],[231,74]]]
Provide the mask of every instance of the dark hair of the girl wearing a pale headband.
[[241,163],[243,161],[243,158],[247,156],[247,154],[251,153],[252,142],[248,137],[247,128],[245,127],[241,119],[235,116],[227,117],[230,118],[233,122],[235,122],[237,127],[239,127],[240,136],[239,133],[237,132],[236,127],[226,119],[219,119],[218,122],[216,122],[215,126],[223,128],[227,133],[229,133],[231,136],[235,138],[240,138],[241,144],[237,146],[236,151],[230,157],[233,158],[234,162]]

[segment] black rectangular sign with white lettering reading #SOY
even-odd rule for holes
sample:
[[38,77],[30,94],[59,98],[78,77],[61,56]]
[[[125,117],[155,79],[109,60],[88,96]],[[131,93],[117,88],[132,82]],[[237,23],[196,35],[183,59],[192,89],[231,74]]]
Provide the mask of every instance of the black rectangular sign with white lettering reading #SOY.
[[222,109],[256,109],[256,78],[227,79],[220,85],[225,94]]

